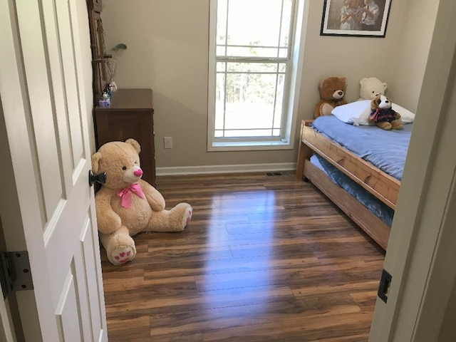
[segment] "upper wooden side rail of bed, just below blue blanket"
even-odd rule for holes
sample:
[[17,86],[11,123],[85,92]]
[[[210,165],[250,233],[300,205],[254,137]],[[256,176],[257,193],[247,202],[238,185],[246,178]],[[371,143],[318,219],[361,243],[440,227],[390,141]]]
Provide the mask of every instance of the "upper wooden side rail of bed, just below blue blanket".
[[313,128],[307,127],[305,123],[301,129],[301,140],[305,145],[331,162],[345,175],[351,177],[358,185],[395,209],[398,202],[399,180],[378,170],[370,162],[366,162],[336,142],[317,133]]

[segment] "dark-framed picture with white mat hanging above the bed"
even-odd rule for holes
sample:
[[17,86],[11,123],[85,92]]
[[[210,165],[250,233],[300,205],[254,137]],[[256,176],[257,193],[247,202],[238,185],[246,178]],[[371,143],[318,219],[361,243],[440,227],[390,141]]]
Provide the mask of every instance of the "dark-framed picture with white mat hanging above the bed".
[[325,0],[321,36],[385,37],[391,0]]

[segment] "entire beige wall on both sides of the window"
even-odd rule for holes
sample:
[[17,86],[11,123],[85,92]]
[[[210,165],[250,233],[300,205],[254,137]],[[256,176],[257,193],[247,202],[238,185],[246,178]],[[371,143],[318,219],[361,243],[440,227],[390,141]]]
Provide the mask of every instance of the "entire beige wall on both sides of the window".
[[[310,1],[296,142],[301,119],[311,118],[318,102],[316,85],[321,78],[346,76],[346,99],[353,101],[359,95],[359,80],[375,76],[388,83],[390,97],[398,96],[405,106],[416,103],[430,33],[424,35],[420,49],[401,45],[401,35],[405,32],[410,38],[414,30],[430,30],[435,15],[432,19],[432,11],[430,16],[426,11],[436,5],[420,0],[423,9],[409,11],[411,1],[392,1],[385,38],[320,36],[323,0]],[[118,64],[118,86],[154,91],[159,169],[296,161],[297,144],[294,150],[207,152],[209,0],[105,0],[103,4],[106,46],[128,46]],[[401,57],[392,53],[399,50]],[[404,83],[413,84],[413,91],[399,90]],[[172,137],[172,150],[163,149],[164,136]]]

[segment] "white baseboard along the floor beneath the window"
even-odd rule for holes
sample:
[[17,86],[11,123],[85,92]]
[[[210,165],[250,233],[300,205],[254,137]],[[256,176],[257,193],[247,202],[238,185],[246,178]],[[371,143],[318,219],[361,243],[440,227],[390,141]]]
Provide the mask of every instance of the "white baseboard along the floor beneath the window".
[[278,162],[271,164],[239,164],[239,165],[202,165],[157,167],[157,176],[168,175],[201,175],[211,173],[239,173],[239,172],[274,172],[296,170],[296,162]]

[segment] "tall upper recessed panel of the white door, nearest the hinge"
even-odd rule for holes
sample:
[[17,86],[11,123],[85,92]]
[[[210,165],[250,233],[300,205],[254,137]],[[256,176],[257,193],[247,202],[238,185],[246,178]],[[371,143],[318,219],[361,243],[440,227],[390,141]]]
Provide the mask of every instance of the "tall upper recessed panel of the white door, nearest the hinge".
[[61,199],[62,188],[60,182],[56,182],[60,179],[60,167],[41,19],[36,1],[18,1],[16,11],[25,71],[24,95],[28,96],[26,110],[30,110],[31,115],[32,148],[36,149],[36,172],[41,178],[40,190],[44,202],[41,216],[47,222]]

